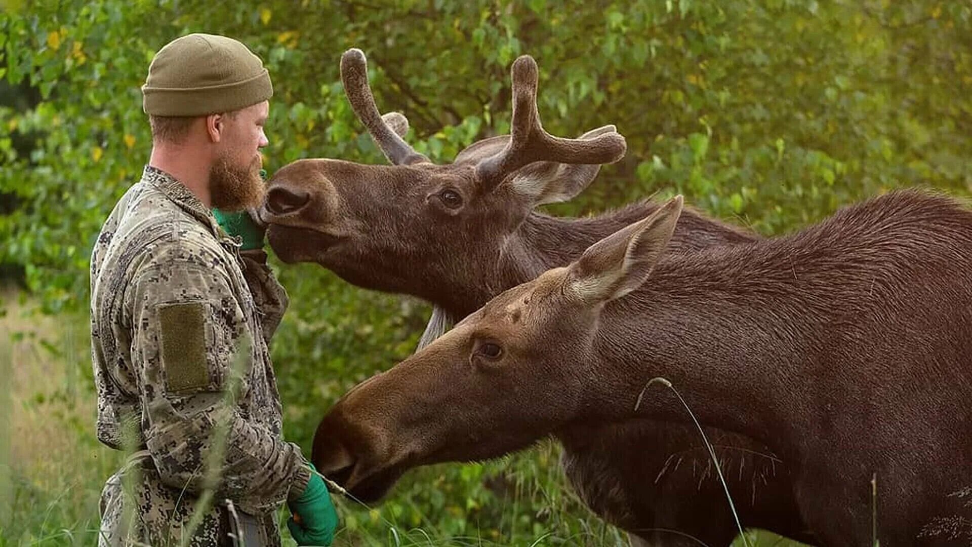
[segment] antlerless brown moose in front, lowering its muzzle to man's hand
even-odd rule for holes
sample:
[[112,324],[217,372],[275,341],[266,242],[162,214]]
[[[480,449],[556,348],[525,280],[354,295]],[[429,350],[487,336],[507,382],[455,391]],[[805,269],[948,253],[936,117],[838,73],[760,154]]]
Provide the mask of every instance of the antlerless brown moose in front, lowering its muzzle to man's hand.
[[[348,392],[315,463],[351,492],[585,423],[698,418],[790,462],[823,545],[968,545],[972,214],[890,194],[791,237],[665,257],[680,199]],[[503,397],[497,397],[503,393]],[[636,409],[636,401],[641,400]],[[872,479],[876,492],[872,493]]]

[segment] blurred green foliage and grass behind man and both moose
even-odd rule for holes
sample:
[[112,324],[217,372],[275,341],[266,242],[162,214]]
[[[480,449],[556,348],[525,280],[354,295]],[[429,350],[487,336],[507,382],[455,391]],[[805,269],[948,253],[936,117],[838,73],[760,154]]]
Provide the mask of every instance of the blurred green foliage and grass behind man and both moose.
[[[384,162],[339,83],[341,53],[358,47],[379,108],[404,113],[408,140],[440,163],[507,131],[509,66],[534,55],[550,132],[610,123],[628,139],[627,157],[555,214],[681,193],[773,235],[892,188],[972,190],[967,0],[6,0],[0,10],[0,376],[10,380],[0,545],[93,540],[118,455],[93,437],[88,255],[148,158],[139,87],[149,61],[184,33],[233,36],[264,59],[271,171],[308,157]],[[309,452],[324,411],[408,355],[429,308],[316,266],[279,271],[292,307],[273,356],[286,434]],[[566,487],[558,450],[412,472],[372,511],[344,503],[339,542],[626,544]]]

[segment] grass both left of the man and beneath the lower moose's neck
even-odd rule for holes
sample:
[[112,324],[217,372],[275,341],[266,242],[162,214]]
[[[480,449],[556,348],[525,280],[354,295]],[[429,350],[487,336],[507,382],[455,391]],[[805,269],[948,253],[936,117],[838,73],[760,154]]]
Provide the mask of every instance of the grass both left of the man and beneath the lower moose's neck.
[[[94,544],[101,488],[122,455],[94,437],[87,315],[41,316],[10,291],[0,296],[0,547]],[[335,545],[626,547],[622,531],[564,486],[559,451],[547,442],[500,461],[420,469],[376,507],[339,499]],[[457,492],[475,489],[481,492],[457,501],[464,497]],[[447,518],[432,522],[430,514]],[[749,545],[799,545],[758,531],[747,538]]]

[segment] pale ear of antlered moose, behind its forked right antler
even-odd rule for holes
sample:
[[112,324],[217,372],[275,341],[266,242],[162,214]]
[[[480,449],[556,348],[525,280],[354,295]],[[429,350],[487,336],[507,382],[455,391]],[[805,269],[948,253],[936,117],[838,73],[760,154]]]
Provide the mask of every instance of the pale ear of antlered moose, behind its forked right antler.
[[[587,131],[578,140],[590,140],[614,132],[617,132],[614,126],[605,126]],[[534,162],[513,173],[509,185],[514,192],[529,198],[537,205],[556,203],[568,201],[583,192],[600,170],[599,164]]]

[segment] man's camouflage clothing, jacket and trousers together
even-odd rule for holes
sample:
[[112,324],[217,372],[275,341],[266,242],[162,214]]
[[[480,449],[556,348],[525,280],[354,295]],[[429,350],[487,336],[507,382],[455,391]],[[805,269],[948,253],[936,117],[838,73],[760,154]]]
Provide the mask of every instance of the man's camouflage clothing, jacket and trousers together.
[[[189,189],[151,166],[95,243],[98,439],[151,456],[126,466],[138,473],[124,495],[121,472],[108,481],[105,543],[179,543],[196,498],[212,492],[259,519],[276,544],[275,509],[306,487],[306,460],[282,440],[267,350],[286,293],[265,255],[244,259],[238,248]],[[208,508],[191,544],[219,544],[224,513]]]

